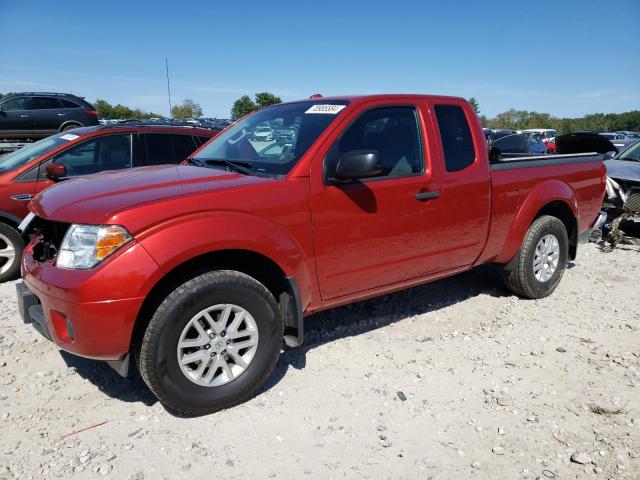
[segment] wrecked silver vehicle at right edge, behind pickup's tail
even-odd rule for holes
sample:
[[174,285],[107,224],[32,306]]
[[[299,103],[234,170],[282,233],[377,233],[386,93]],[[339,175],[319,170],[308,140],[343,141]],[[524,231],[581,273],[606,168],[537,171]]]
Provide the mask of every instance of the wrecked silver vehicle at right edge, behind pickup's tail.
[[[610,223],[606,236],[610,248],[622,242],[640,244],[640,142],[605,162],[607,194],[603,209]],[[633,238],[636,237],[636,238]]]

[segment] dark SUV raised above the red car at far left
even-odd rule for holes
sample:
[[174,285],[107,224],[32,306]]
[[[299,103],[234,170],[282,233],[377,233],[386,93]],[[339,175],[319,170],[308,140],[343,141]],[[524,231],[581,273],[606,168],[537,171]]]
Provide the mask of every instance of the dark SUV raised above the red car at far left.
[[68,93],[15,93],[0,100],[0,139],[38,139],[98,125],[98,112]]

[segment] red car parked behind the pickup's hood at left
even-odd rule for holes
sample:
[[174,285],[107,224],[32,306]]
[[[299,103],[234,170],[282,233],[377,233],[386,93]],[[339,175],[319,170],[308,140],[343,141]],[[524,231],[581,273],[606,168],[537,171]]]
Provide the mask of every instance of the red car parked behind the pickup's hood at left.
[[145,165],[176,164],[219,130],[123,122],[81,127],[0,157],[0,282],[17,276],[24,242],[17,227],[27,204],[52,185],[45,167],[64,164],[68,177]]

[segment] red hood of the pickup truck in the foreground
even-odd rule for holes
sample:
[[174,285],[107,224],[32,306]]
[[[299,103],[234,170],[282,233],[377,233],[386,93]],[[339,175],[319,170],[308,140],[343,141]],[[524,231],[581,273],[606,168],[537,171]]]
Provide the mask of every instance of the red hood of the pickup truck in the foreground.
[[67,223],[102,223],[141,203],[270,181],[224,170],[159,165],[103,172],[53,185],[29,204],[39,217]]

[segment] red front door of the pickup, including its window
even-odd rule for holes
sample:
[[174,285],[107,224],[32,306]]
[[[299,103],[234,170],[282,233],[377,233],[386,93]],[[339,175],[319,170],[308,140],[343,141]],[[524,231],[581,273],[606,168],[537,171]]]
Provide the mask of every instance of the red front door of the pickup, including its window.
[[[440,186],[428,165],[421,125],[417,105],[367,109],[323,159],[326,175],[311,203],[323,300],[438,269]],[[379,152],[383,171],[344,185],[328,182],[340,156],[354,150]]]

